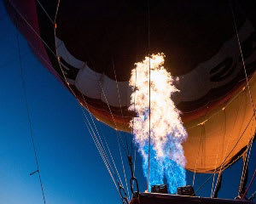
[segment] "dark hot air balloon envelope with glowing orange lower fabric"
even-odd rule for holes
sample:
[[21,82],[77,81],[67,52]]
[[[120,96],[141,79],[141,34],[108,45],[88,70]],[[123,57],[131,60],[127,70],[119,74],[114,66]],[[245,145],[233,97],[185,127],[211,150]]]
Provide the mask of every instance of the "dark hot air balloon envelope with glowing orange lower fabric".
[[131,69],[148,52],[164,53],[189,135],[185,168],[221,173],[247,153],[256,127],[253,1],[5,5],[38,59],[99,121],[131,132]]

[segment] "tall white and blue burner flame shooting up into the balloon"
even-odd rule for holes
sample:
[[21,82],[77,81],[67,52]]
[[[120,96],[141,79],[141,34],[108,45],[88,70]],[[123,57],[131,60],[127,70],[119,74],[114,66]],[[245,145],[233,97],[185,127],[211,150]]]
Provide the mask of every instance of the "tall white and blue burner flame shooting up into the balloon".
[[[177,191],[177,186],[186,184],[183,154],[183,141],[187,132],[171,96],[177,92],[173,85],[171,73],[164,68],[164,54],[150,56],[150,181],[152,184],[163,184],[166,179],[170,193]],[[131,121],[134,140],[143,156],[143,173],[148,177],[148,133],[149,133],[149,57],[135,64],[131,71],[130,86],[131,106],[137,117]],[[135,103],[134,103],[135,101]],[[149,188],[150,190],[150,188]]]

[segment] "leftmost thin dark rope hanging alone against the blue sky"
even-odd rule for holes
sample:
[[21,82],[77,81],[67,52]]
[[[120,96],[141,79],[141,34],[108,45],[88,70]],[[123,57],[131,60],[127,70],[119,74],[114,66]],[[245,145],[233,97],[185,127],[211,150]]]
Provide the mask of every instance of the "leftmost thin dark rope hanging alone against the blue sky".
[[31,117],[30,117],[30,112],[29,112],[28,103],[27,103],[27,99],[26,99],[26,83],[25,83],[25,80],[24,80],[24,73],[23,73],[23,68],[22,68],[22,65],[21,65],[20,41],[19,41],[18,31],[17,31],[16,37],[17,37],[17,45],[18,45],[18,51],[19,51],[20,77],[21,77],[23,94],[24,94],[24,98],[25,98],[26,116],[27,116],[27,120],[28,120],[28,124],[29,124],[30,137],[31,137],[31,141],[32,141],[32,149],[33,149],[33,152],[34,152],[34,157],[35,157],[36,166],[37,166],[37,171],[36,172],[38,173],[38,178],[39,178],[40,187],[41,187],[41,191],[42,191],[43,201],[44,201],[44,204],[46,204],[45,196],[44,196],[44,187],[43,187],[43,182],[42,182],[39,163],[38,163],[38,154],[37,154],[35,141],[34,141],[34,134],[33,134],[33,130],[32,130],[32,120],[31,120]]

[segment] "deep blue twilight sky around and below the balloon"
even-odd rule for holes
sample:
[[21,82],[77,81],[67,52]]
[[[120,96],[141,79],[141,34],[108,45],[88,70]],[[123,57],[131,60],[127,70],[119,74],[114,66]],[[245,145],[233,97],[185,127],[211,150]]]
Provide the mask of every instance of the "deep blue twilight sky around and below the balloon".
[[[26,82],[26,99],[38,151],[46,203],[121,203],[119,194],[102,162],[90,133],[84,125],[79,103],[34,57],[24,37],[15,29],[0,0],[0,203],[43,203],[32,150],[25,95],[21,86],[17,37],[21,49],[21,66]],[[86,112],[88,115],[88,113]],[[122,166],[115,131],[96,122],[108,141],[119,173]],[[131,141],[131,134],[121,133]],[[123,155],[125,157],[125,154]],[[141,157],[137,156],[136,177],[140,190],[146,189]],[[249,177],[256,167],[256,146],[250,156]],[[125,158],[125,170],[131,178]],[[195,190],[210,174],[195,176]],[[193,173],[187,172],[187,184]],[[219,197],[234,198],[241,178],[241,161],[224,172]],[[125,183],[125,181],[123,180]],[[198,195],[211,194],[212,179]],[[254,181],[249,195],[256,190]]]

